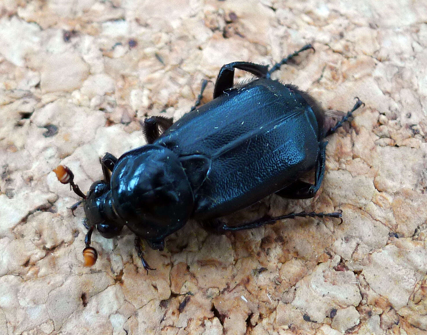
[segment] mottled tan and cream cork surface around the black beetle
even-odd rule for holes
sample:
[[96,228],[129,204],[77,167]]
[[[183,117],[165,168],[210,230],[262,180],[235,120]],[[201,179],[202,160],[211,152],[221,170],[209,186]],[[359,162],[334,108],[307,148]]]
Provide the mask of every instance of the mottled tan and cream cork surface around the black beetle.
[[[426,334],[425,2],[6,0],[0,15],[0,334]],[[176,120],[222,64],[307,43],[275,78],[326,109],[366,106],[329,138],[315,198],[230,220],[343,223],[213,236],[190,221],[146,247],[148,275],[129,230],[94,233],[85,268],[83,210],[51,170],[86,191],[105,151],[145,143],[144,116]]]

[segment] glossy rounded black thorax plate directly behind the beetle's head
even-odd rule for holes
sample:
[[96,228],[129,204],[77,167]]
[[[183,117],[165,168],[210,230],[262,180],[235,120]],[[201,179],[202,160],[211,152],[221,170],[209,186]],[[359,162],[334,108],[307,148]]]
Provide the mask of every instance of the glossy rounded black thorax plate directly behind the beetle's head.
[[119,158],[111,175],[111,201],[123,224],[146,239],[167,236],[182,227],[194,206],[179,157],[157,145]]

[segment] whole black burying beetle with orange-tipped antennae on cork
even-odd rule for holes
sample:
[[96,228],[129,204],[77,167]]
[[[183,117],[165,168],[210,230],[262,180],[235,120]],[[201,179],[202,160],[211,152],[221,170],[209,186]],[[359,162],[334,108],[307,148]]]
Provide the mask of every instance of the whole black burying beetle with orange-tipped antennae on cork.
[[[219,70],[213,100],[200,105],[207,81],[191,111],[173,123],[172,118],[148,117],[143,133],[147,143],[120,158],[106,153],[101,160],[104,179],[85,195],[65,166],[54,171],[82,200],[88,223],[83,251],[85,265],[93,265],[97,251],[90,247],[96,227],[105,238],[120,234],[124,225],[135,233],[135,247],[144,268],[153,270],[142,256],[141,239],[163,250],[164,238],[189,219],[215,233],[273,224],[296,216],[341,218],[335,213],[301,212],[262,218],[228,226],[220,217],[242,210],[276,193],[285,198],[312,198],[325,175],[325,137],[333,134],[363,102],[332,128],[325,126],[325,111],[306,92],[270,79],[281,65],[237,61]],[[234,87],[234,69],[257,78]],[[164,132],[160,135],[159,128]],[[315,182],[299,178],[315,169]],[[111,175],[110,175],[111,172]],[[342,218],[341,218],[342,220]]]

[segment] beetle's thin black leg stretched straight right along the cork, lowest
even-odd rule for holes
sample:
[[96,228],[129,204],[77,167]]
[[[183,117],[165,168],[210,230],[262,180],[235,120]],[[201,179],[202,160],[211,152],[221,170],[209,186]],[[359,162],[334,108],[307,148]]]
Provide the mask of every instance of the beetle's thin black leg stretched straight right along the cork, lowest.
[[287,218],[296,218],[298,216],[300,216],[300,217],[309,216],[311,218],[314,218],[316,216],[318,218],[325,218],[325,217],[339,218],[339,219],[341,219],[341,223],[342,223],[342,211],[339,210],[338,212],[334,212],[334,213],[300,212],[300,213],[290,213],[287,215],[281,215],[281,216],[275,216],[275,217],[265,215],[258,220],[255,220],[252,222],[247,222],[244,224],[239,224],[237,226],[228,226],[227,224],[224,224],[220,219],[216,218],[213,220],[208,220],[208,221],[202,222],[202,227],[205,228],[206,230],[211,231],[211,232],[223,234],[223,233],[226,233],[228,231],[253,229],[253,228],[257,228],[257,227],[262,227],[265,224],[275,224],[276,221],[284,220]]

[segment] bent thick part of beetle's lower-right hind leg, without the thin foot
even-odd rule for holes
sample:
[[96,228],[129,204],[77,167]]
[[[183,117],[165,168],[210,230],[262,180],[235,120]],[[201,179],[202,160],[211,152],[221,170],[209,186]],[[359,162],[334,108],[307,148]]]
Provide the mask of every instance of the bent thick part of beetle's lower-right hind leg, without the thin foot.
[[314,185],[306,183],[305,181],[297,180],[292,184],[286,186],[284,189],[277,191],[276,194],[290,199],[308,199],[313,198],[316,192],[322,185],[323,177],[325,175],[325,161],[326,161],[326,145],[328,141],[320,142],[319,157],[316,163],[316,176]]

